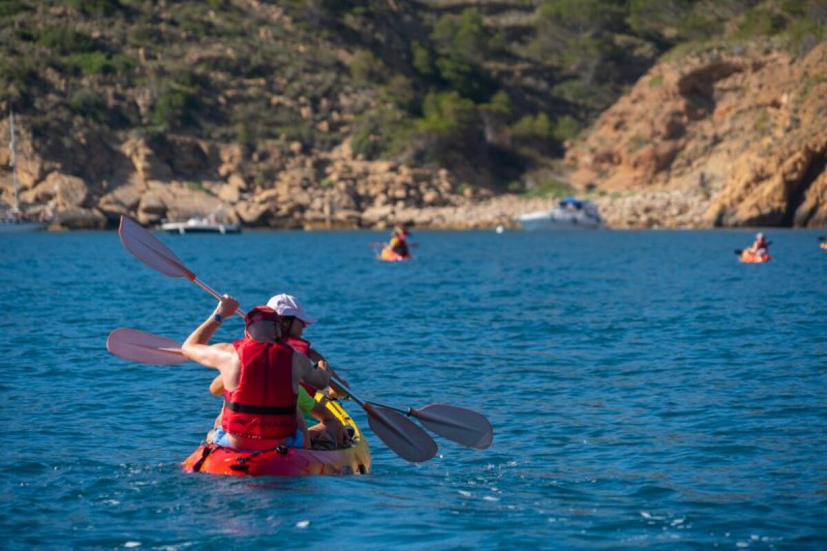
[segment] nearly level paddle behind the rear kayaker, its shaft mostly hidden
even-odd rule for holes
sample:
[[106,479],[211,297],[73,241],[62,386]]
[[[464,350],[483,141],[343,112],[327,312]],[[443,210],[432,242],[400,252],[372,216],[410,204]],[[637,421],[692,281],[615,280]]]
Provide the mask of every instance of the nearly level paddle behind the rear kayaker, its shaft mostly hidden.
[[[107,340],[107,349],[119,358],[141,363],[170,365],[188,361],[174,340],[136,329],[121,328],[112,331]],[[489,447],[494,436],[494,430],[485,416],[463,407],[431,404],[418,410],[412,407],[403,410],[375,401],[370,403],[382,408],[380,411],[390,410],[415,417],[425,428],[433,430],[437,435],[471,448]],[[395,418],[397,417],[394,416]],[[370,423],[370,417],[368,422]],[[373,428],[373,425],[370,426]]]

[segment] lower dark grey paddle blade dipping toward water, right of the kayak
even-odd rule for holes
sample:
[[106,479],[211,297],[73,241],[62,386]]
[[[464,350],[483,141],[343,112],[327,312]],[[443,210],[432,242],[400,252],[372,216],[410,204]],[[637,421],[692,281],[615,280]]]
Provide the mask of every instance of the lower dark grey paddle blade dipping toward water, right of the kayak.
[[411,463],[422,463],[437,454],[437,443],[404,415],[366,402],[362,408],[376,436],[395,454]]

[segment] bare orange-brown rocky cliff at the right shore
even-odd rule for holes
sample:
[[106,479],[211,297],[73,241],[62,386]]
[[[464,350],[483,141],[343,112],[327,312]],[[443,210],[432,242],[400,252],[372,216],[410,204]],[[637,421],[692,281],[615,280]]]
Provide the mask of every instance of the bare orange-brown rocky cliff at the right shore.
[[824,226],[825,159],[827,43],[658,64],[566,151],[615,226]]

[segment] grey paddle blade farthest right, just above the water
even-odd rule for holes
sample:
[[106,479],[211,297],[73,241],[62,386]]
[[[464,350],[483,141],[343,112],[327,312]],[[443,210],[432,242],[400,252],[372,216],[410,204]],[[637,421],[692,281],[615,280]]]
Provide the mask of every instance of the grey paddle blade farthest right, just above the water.
[[464,407],[431,404],[411,410],[410,415],[428,430],[469,448],[488,448],[494,439],[494,429],[485,416]]

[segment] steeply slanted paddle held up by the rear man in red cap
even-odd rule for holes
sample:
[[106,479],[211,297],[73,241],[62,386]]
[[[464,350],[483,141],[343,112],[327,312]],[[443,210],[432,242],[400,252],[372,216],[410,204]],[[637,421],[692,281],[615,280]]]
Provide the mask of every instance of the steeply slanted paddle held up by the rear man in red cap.
[[[154,235],[136,221],[127,216],[121,216],[118,235],[121,236],[123,246],[136,259],[141,260],[150,268],[172,278],[187,278],[213,297],[221,299],[218,292],[213,291],[207,284],[199,281],[172,250],[155,239]],[[241,308],[236,313],[242,318],[244,317]],[[342,384],[338,378],[337,382]],[[399,457],[412,463],[421,463],[437,454],[437,443],[428,436],[428,433],[414,425],[413,421],[399,415],[396,411],[388,410],[382,406],[373,406],[369,402],[359,400],[353,396],[350,389],[347,393],[368,414],[368,423],[375,435],[379,436]]]

